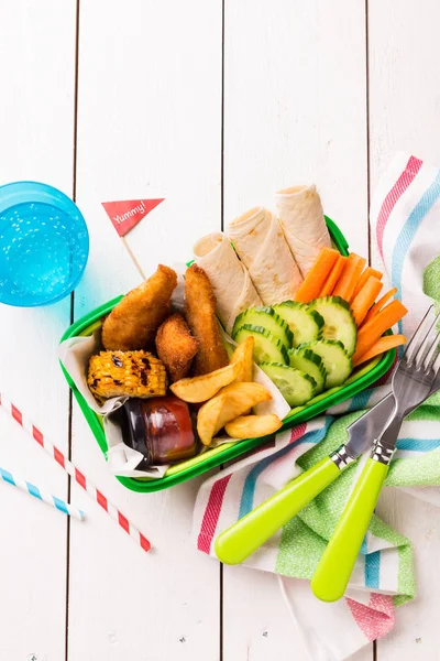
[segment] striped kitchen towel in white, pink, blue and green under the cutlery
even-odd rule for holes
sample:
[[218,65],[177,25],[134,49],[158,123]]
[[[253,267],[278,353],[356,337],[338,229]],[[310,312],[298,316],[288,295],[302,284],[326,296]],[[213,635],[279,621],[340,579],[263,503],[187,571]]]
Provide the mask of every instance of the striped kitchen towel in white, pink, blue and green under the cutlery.
[[[377,187],[371,225],[389,283],[410,311],[399,330],[411,335],[431,299],[440,301],[440,171],[415,156],[397,154]],[[389,384],[382,379],[376,388],[322,418],[277,434],[208,479],[194,513],[198,549],[215,555],[213,540],[220,531],[346,441],[346,426],[388,391]],[[314,575],[365,460],[350,466],[246,561],[250,567],[278,575],[304,640],[305,658],[312,661],[340,661],[384,636],[393,628],[395,606],[415,596],[410,542],[377,516],[373,516],[343,599],[322,604],[304,581]],[[402,425],[385,484],[406,490],[440,485],[440,393]],[[415,494],[420,497],[420,491]],[[341,637],[337,631],[342,628]]]

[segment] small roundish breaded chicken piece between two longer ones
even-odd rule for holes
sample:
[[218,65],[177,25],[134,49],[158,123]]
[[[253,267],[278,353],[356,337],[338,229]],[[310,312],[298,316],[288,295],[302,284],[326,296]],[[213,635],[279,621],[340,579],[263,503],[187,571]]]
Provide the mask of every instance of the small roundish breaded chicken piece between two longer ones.
[[156,349],[172,383],[187,376],[199,346],[182,314],[173,314],[162,324],[156,335]]

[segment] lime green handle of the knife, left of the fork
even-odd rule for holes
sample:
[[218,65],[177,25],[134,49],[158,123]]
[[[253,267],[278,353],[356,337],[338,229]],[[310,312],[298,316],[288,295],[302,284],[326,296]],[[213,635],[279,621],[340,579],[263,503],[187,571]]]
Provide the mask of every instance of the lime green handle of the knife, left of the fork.
[[302,473],[219,534],[217,557],[226,564],[243,562],[339,475],[341,470],[330,457]]

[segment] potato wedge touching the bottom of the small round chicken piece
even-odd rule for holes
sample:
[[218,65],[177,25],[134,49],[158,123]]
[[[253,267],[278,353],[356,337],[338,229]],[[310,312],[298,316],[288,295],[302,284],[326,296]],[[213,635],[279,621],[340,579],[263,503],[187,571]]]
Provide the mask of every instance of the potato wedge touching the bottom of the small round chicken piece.
[[232,383],[241,370],[241,362],[234,362],[233,365],[227,365],[220,369],[216,369],[207,375],[200,377],[193,377],[191,379],[180,379],[172,386],[169,390],[184,402],[197,404],[199,402],[206,402],[211,399],[219,390]]

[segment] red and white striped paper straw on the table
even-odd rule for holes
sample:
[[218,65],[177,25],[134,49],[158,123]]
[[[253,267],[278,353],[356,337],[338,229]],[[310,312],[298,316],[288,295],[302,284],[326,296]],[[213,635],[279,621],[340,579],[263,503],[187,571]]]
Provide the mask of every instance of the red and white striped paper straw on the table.
[[80,487],[101,506],[103,510],[116,521],[144,551],[150,551],[151,543],[142,534],[133,523],[124,517],[114,505],[112,505],[106,496],[91,481],[86,478],[84,473],[79,470],[55,445],[50,443],[42,432],[30,420],[24,418],[23,413],[10,402],[4,394],[0,394],[0,404],[8,411],[10,415],[18,422],[23,430],[30,434],[34,441],[43,447],[55,462],[62,466],[70,477],[73,477]]

